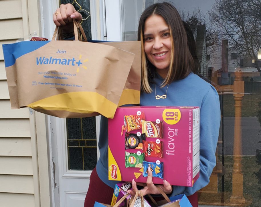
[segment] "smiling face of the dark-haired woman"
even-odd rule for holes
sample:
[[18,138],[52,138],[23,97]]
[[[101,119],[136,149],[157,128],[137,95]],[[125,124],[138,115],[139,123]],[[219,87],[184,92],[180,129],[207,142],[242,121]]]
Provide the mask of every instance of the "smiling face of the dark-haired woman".
[[169,26],[160,15],[151,15],[145,21],[144,50],[149,61],[162,77],[167,75],[171,59]]

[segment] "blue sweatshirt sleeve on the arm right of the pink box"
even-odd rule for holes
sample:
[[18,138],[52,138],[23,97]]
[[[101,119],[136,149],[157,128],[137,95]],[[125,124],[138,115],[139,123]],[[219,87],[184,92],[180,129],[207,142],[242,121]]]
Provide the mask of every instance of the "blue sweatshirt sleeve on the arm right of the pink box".
[[220,101],[211,85],[200,107],[200,172],[193,187],[173,186],[171,196],[185,194],[190,196],[209,183],[209,177],[216,165],[216,147],[220,128]]

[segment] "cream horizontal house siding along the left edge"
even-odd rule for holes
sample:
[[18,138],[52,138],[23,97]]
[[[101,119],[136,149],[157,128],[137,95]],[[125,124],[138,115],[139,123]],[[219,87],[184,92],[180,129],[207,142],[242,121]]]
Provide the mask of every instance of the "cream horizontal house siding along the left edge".
[[0,1],[0,166],[4,166],[0,168],[0,206],[3,207],[37,206],[29,110],[11,110],[2,51],[2,44],[15,43],[29,31],[25,8],[26,0]]

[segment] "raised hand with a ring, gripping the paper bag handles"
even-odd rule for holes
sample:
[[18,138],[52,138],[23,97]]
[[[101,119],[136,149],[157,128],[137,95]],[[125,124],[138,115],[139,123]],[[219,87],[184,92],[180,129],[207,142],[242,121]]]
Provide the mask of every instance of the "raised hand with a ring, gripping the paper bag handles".
[[62,4],[53,14],[54,24],[61,27],[64,33],[73,32],[73,19],[82,20],[82,15],[74,9],[72,4]]

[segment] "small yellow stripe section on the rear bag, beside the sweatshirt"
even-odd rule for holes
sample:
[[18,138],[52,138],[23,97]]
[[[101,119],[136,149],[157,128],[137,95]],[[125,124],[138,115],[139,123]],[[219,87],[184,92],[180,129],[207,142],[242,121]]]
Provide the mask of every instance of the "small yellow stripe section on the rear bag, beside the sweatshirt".
[[139,104],[140,93],[141,91],[135,89],[124,89],[120,96],[118,106],[123,106],[125,104]]

